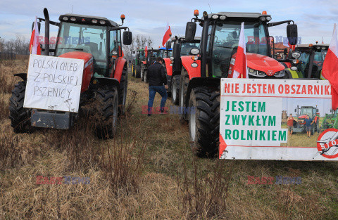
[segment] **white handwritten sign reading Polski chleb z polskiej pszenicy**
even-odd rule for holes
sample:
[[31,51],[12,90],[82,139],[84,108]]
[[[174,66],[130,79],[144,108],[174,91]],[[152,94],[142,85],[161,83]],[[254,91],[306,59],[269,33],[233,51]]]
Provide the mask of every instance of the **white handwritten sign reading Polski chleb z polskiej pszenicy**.
[[78,112],[84,60],[30,55],[24,108]]

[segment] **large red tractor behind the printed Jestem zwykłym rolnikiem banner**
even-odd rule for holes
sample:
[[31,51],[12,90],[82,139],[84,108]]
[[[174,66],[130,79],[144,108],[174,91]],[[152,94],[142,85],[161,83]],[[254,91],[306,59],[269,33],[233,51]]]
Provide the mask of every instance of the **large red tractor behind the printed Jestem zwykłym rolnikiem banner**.
[[249,78],[284,79],[284,65],[272,58],[268,27],[288,23],[287,37],[294,45],[297,26],[292,20],[270,22],[263,13],[211,13],[187,22],[185,40],[193,41],[196,22],[203,27],[200,48],[182,56],[179,104],[181,120],[189,120],[191,148],[197,155],[213,157],[218,151],[220,128],[220,79],[232,77],[239,32],[244,22]]

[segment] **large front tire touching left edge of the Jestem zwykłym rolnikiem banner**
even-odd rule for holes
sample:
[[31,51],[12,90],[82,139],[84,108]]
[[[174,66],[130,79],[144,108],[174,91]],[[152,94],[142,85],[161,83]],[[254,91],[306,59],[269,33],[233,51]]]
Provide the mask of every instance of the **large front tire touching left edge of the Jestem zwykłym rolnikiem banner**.
[[220,88],[197,87],[189,98],[189,138],[199,157],[215,157],[220,133]]

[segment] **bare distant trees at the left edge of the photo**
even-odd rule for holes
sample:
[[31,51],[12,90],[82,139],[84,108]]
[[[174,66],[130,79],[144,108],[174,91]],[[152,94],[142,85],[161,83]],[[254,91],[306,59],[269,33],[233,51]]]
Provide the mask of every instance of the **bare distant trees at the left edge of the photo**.
[[30,41],[20,34],[16,34],[15,39],[6,40],[0,38],[0,53],[14,53],[17,55],[30,54]]

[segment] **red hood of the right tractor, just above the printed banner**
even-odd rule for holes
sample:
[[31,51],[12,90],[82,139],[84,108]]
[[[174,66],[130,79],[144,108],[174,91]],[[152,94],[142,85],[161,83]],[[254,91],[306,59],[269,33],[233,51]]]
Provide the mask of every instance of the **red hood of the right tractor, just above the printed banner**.
[[246,53],[246,63],[249,68],[265,72],[268,76],[273,76],[285,68],[277,60],[256,53]]

